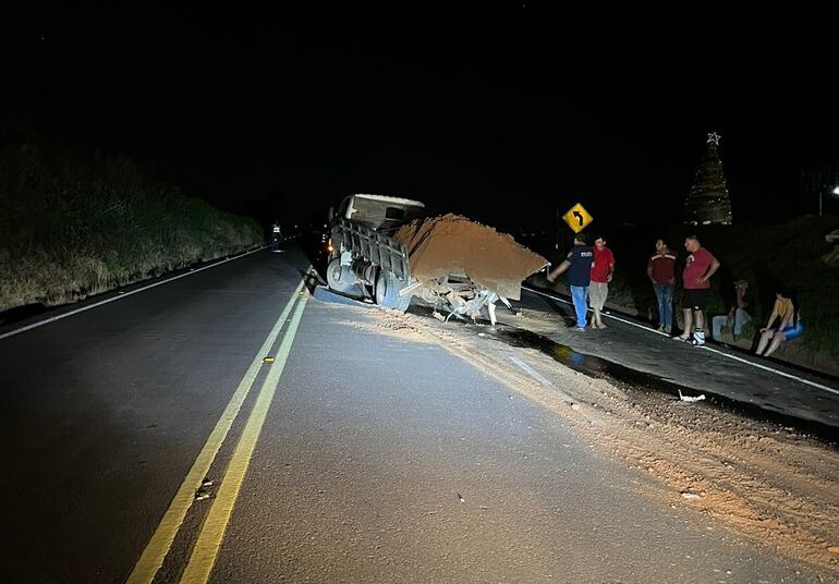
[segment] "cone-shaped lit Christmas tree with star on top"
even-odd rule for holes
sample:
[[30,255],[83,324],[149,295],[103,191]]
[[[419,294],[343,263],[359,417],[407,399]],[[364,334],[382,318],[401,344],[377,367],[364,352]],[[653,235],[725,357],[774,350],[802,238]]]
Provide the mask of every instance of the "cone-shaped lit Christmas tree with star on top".
[[731,202],[717,147],[719,134],[708,134],[708,149],[684,200],[684,222],[692,226],[731,224]]

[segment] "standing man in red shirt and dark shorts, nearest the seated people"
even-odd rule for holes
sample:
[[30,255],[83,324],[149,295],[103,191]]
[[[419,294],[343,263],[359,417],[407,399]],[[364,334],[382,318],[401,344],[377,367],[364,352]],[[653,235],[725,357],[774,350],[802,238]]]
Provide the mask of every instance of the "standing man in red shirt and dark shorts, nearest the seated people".
[[[719,269],[719,261],[714,255],[700,244],[696,235],[684,240],[684,248],[691,254],[682,272],[682,313],[684,314],[684,332],[673,339],[690,342],[695,346],[705,344],[704,318],[702,311],[708,303],[710,290],[710,277]],[[695,326],[691,337],[691,325]]]

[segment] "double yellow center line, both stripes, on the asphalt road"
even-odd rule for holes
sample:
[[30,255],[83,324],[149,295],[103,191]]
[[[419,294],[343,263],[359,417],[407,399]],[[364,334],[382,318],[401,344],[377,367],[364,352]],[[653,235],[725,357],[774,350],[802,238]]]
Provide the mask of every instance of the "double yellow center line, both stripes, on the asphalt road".
[[212,433],[210,433],[209,438],[207,438],[204,448],[202,448],[198,457],[195,459],[192,469],[190,469],[190,472],[186,474],[186,477],[178,489],[169,509],[163,514],[163,519],[160,521],[157,530],[155,530],[155,534],[151,536],[151,539],[146,545],[146,549],[143,551],[134,570],[131,572],[127,580],[129,584],[150,584],[158,570],[160,570],[160,567],[163,564],[163,560],[167,553],[169,553],[172,542],[183,524],[186,512],[190,510],[190,507],[195,499],[195,491],[200,487],[204,477],[207,476],[212,461],[216,459],[221,445],[227,438],[230,427],[233,425],[233,421],[239,415],[242,403],[251,391],[251,387],[256,380],[259,369],[264,365],[264,356],[270,352],[277,341],[277,337],[279,337],[282,326],[289,318],[289,314],[291,314],[294,303],[300,299],[276,358],[271,364],[271,368],[256,398],[251,416],[247,418],[239,445],[233,452],[233,457],[224,476],[220,480],[218,492],[216,498],[212,499],[212,506],[202,525],[192,556],[181,576],[181,582],[205,583],[209,579],[210,571],[212,570],[219,548],[221,547],[224,530],[230,521],[233,506],[235,504],[242,482],[247,472],[247,465],[251,462],[256,441],[259,438],[259,433],[262,431],[263,424],[268,414],[268,407],[270,406],[277,386],[279,385],[280,376],[285,368],[285,362],[289,357],[289,352],[291,351],[291,344],[294,342],[294,336],[297,332],[300,320],[303,317],[303,311],[306,307],[307,296],[302,293],[303,283],[304,282],[301,281],[297,284],[291,299],[280,314],[280,317],[277,319],[270,333],[263,343],[259,353],[254,357],[253,363],[251,363],[242,381],[239,384],[239,387],[224,409],[224,412],[216,423],[216,427],[212,429]]

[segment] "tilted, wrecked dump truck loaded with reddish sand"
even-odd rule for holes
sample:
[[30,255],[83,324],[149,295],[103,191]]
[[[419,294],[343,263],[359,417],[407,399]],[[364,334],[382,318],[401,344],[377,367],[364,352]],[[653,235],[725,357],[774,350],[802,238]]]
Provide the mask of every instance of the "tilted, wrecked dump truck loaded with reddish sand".
[[477,318],[510,306],[547,259],[510,235],[457,215],[427,217],[423,203],[356,194],[330,210],[330,290],[405,311],[416,300],[446,318]]

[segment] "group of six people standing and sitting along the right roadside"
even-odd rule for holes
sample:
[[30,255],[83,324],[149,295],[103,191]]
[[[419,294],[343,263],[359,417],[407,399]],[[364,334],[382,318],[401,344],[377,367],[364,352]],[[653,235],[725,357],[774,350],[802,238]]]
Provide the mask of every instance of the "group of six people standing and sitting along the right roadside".
[[[682,316],[684,326],[681,334],[673,336],[677,341],[695,346],[705,344],[705,309],[710,294],[710,279],[719,270],[720,263],[702,246],[698,238],[691,235],[684,240],[688,257],[682,270]],[[676,294],[677,256],[662,239],[656,241],[656,253],[647,263],[647,277],[658,302],[658,330],[671,334],[673,331],[673,297]],[[586,313],[591,305],[591,328],[603,329],[601,313],[609,293],[609,282],[615,273],[615,255],[606,247],[606,240],[597,236],[594,247],[588,245],[586,236],[577,233],[574,246],[566,259],[550,270],[547,279],[555,282],[563,272],[568,272],[568,284],[576,316],[575,330],[586,329]],[[727,315],[712,319],[712,336],[715,341],[722,339],[722,329],[729,328],[734,338],[742,333],[746,323],[752,320],[746,311],[749,282],[734,282],[734,300]],[[779,288],[776,291],[775,305],[764,328],[755,353],[762,356],[773,354],[783,341],[800,337],[804,331],[799,306],[792,293]]]

